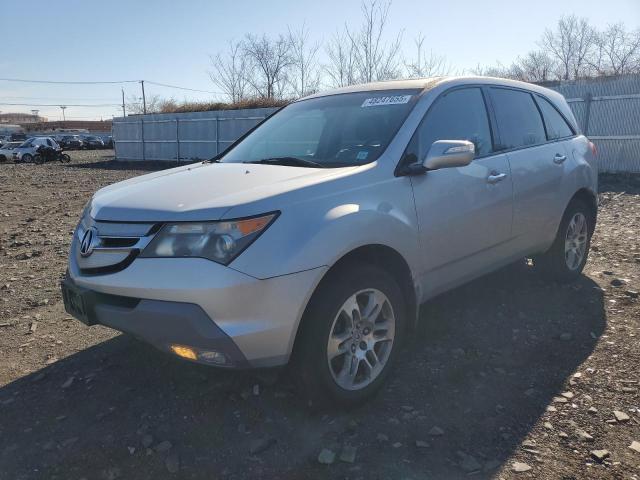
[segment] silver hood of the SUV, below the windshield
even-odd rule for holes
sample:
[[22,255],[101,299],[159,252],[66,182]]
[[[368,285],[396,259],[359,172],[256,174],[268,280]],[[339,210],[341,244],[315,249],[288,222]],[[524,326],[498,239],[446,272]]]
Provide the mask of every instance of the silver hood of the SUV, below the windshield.
[[193,164],[131,178],[93,197],[91,217],[120,222],[218,220],[230,208],[342,176],[347,168]]

